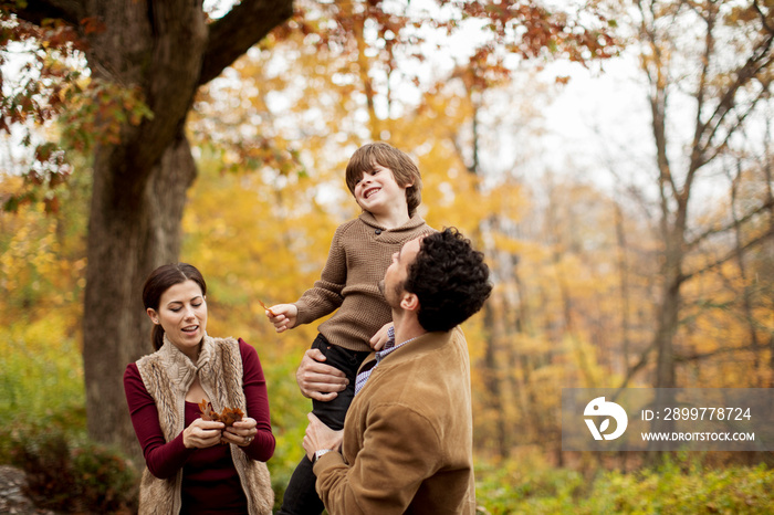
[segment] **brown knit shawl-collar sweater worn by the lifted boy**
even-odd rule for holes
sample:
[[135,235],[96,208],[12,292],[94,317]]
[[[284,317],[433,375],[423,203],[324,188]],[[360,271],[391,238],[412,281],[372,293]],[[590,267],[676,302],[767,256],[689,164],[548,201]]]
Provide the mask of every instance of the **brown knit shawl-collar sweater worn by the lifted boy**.
[[370,350],[370,337],[393,319],[378,290],[393,254],[430,232],[419,214],[395,229],[380,225],[367,211],[339,225],[320,281],[295,303],[297,323],[310,324],[338,309],[320,325],[320,334],[349,350]]

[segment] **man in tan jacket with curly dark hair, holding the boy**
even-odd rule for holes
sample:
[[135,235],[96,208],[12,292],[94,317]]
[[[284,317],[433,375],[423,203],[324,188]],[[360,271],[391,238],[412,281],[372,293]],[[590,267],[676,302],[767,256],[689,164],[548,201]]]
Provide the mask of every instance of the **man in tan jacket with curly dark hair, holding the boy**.
[[468,347],[489,296],[483,254],[454,229],[407,242],[380,288],[394,339],[362,365],[344,429],[310,413],[304,449],[336,514],[473,514]]

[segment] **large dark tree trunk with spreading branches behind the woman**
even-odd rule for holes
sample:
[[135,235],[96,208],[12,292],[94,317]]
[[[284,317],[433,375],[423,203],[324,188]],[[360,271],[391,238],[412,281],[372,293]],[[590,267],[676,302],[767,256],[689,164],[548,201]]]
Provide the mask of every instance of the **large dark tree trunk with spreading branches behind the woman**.
[[[30,0],[20,17],[79,27],[95,80],[136,88],[153,112],[98,143],[88,224],[83,362],[88,433],[139,456],[123,388],[127,364],[153,350],[142,286],[176,262],[196,165],[185,122],[201,84],[292,14],[291,0],[243,0],[207,23],[202,0]],[[84,32],[84,19],[104,30]],[[98,138],[97,138],[98,139]],[[142,463],[142,462],[140,462]]]

